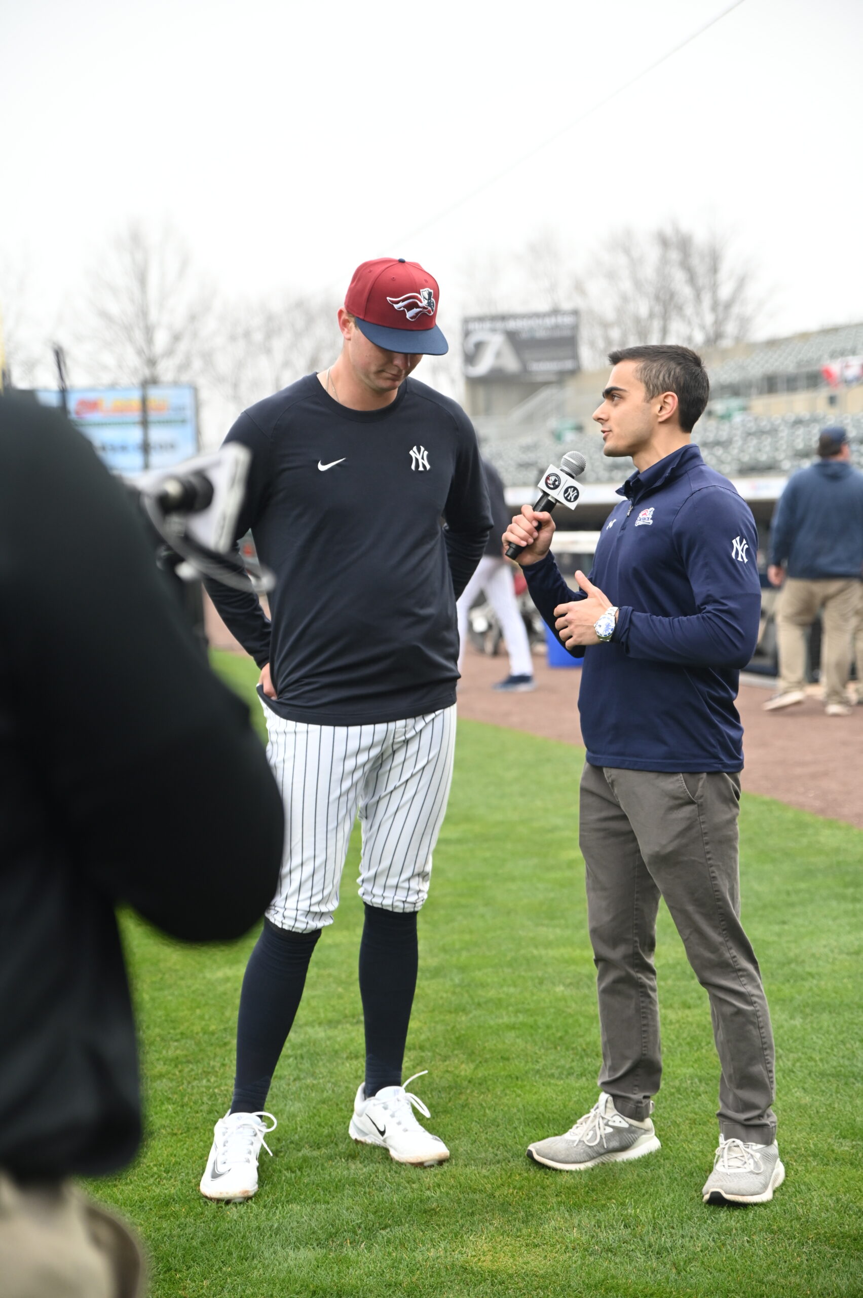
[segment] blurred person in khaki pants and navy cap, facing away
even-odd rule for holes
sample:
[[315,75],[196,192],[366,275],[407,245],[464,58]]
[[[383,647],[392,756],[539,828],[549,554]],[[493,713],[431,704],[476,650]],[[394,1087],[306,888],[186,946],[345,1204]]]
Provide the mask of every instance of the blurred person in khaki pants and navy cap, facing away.
[[790,479],[773,518],[767,576],[773,585],[785,584],[776,617],[780,688],[764,710],[783,710],[806,697],[806,628],[820,613],[827,715],[847,716],[863,566],[863,474],[850,465],[841,426],[823,430],[818,454],[818,463]]

